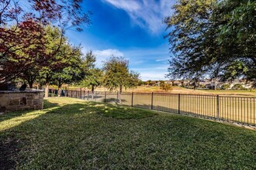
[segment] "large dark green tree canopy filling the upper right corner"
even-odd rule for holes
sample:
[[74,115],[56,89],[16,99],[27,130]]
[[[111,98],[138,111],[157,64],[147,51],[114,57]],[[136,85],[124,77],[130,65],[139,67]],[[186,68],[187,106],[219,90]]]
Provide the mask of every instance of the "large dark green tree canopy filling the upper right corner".
[[178,0],[164,19],[173,56],[171,78],[255,80],[256,2]]

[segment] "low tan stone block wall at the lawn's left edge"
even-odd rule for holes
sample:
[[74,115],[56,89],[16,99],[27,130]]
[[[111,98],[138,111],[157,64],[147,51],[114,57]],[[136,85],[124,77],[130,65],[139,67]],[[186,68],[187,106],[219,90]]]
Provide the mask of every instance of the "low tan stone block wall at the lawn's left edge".
[[43,90],[0,91],[0,112],[43,109]]

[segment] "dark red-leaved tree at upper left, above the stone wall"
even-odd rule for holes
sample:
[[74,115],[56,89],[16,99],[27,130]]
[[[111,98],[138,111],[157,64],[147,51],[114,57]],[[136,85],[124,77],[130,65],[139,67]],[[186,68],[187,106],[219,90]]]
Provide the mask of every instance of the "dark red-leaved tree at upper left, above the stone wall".
[[[32,70],[36,66],[33,61],[41,64],[46,57],[53,57],[63,45],[67,29],[81,31],[81,25],[90,22],[90,13],[81,9],[81,0],[22,1],[31,8],[23,8],[19,0],[0,2],[0,85]],[[43,28],[49,23],[61,30],[61,38],[53,53],[39,57]]]

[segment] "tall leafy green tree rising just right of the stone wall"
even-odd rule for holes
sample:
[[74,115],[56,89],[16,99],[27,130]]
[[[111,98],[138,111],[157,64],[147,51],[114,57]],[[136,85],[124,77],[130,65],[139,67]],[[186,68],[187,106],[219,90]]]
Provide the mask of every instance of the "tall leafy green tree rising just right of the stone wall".
[[[81,47],[71,46],[61,35],[61,30],[54,26],[45,28],[46,64],[40,68],[40,82],[45,84],[45,97],[48,97],[49,85],[57,84],[59,93],[63,83],[81,80]],[[62,39],[62,40],[61,40]],[[61,41],[61,46],[59,42]]]

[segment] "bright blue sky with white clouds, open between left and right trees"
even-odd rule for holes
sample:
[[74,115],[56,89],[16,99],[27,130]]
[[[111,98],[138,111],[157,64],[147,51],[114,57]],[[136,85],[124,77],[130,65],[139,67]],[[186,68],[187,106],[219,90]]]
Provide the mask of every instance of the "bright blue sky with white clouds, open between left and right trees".
[[83,53],[92,50],[97,66],[109,56],[123,56],[130,69],[142,80],[167,80],[164,76],[170,57],[168,39],[164,39],[164,16],[171,15],[175,0],[87,0],[92,25],[83,32],[68,31],[73,44],[81,44]]

